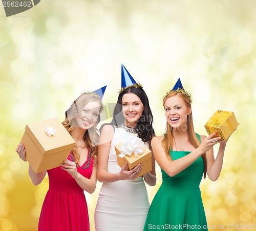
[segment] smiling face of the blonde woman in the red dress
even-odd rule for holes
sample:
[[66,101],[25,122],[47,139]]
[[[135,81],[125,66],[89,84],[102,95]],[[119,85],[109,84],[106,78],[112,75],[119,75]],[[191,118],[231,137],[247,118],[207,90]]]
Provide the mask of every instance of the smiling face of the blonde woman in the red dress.
[[76,118],[77,127],[84,130],[93,127],[98,120],[100,106],[98,101],[91,101],[85,105],[79,116]]

